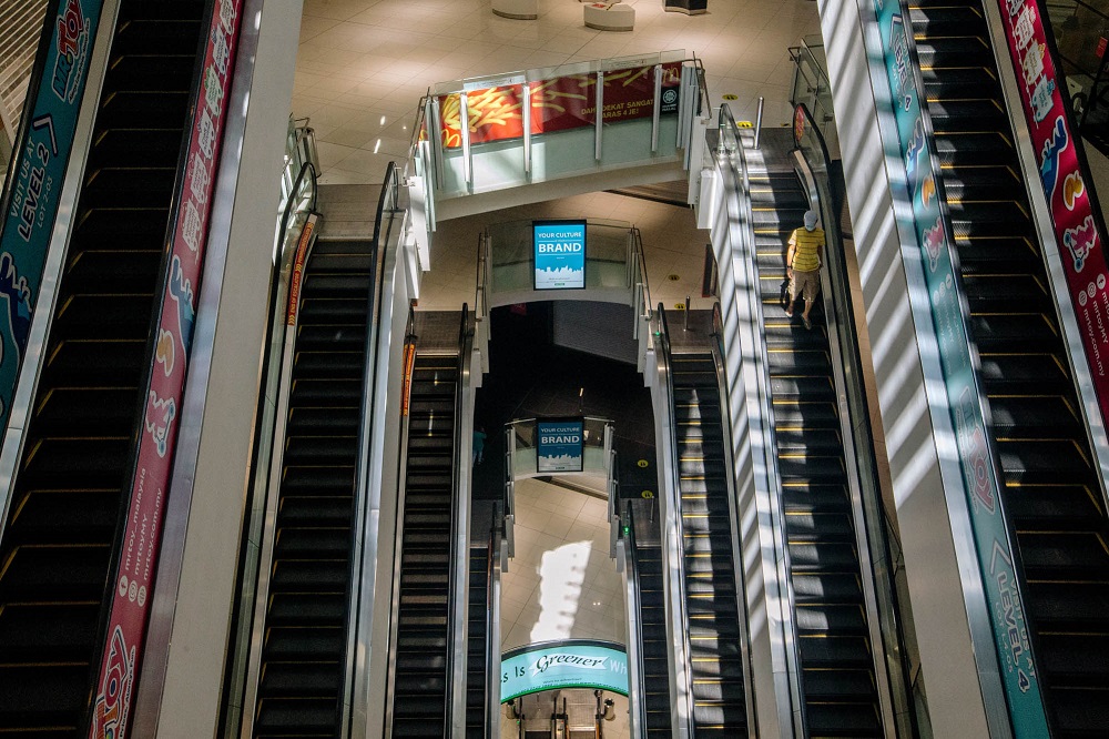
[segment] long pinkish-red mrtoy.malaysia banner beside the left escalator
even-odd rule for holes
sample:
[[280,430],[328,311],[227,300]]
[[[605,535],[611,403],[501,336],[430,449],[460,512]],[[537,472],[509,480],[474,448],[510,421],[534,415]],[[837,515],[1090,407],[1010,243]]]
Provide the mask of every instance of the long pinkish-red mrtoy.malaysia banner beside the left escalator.
[[242,1],[217,0],[207,34],[173,233],[170,279],[162,295],[144,427],[118,563],[108,642],[96,678],[90,728],[93,739],[123,739],[129,729],[135,678],[146,638],[152,578],[161,546],[165,488],[180,423],[179,409],[193,337],[213,176],[227,108],[226,91],[234,65]]

